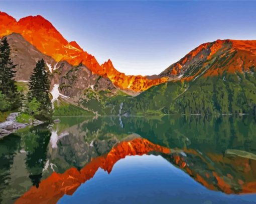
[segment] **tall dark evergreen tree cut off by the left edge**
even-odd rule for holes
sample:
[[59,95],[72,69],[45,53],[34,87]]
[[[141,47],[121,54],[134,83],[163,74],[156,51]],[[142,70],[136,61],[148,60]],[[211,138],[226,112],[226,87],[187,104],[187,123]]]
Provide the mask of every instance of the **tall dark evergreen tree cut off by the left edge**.
[[0,42],[0,91],[5,95],[8,101],[11,101],[11,108],[15,109],[21,105],[21,94],[17,90],[17,85],[15,84],[15,67],[11,57],[11,48],[4,37]]

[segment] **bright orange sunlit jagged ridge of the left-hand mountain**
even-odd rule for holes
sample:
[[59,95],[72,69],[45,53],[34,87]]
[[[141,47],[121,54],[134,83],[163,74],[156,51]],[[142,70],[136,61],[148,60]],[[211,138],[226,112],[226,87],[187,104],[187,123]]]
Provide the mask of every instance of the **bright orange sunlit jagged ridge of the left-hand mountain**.
[[153,85],[167,81],[167,77],[149,79],[145,76],[125,75],[117,71],[112,62],[100,65],[96,58],[84,51],[75,41],[68,42],[44,17],[27,16],[17,21],[5,12],[0,12],[0,37],[13,32],[20,33],[42,53],[52,56],[57,62],[66,60],[72,65],[81,61],[92,72],[108,77],[121,89],[143,91]]

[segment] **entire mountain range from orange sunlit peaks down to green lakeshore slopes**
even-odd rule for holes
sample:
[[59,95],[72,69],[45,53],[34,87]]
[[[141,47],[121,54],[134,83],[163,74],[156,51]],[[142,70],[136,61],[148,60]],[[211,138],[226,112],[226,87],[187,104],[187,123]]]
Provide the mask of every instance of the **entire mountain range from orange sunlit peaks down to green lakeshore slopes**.
[[42,57],[52,87],[96,114],[256,113],[256,40],[203,43],[159,75],[127,76],[111,60],[99,65],[42,16],[17,21],[0,12],[0,22],[18,79],[27,80],[33,61]]

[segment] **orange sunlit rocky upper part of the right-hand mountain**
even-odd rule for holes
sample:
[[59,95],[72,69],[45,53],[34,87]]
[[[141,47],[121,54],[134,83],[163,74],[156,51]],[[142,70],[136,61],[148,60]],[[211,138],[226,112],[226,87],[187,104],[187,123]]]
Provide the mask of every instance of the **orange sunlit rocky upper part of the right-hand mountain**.
[[192,80],[200,75],[216,76],[224,71],[248,71],[255,65],[256,40],[216,40],[199,45],[160,76]]

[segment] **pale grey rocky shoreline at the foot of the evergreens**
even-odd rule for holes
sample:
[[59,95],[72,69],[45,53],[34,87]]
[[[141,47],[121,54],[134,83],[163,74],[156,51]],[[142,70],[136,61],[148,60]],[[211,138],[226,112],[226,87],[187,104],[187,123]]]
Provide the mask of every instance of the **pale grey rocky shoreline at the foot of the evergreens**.
[[6,118],[6,121],[0,122],[0,138],[3,138],[12,132],[15,132],[17,129],[24,128],[29,125],[38,125],[44,123],[41,120],[34,119],[31,120],[30,123],[21,123],[16,121],[16,117],[20,114],[20,112],[12,112]]

